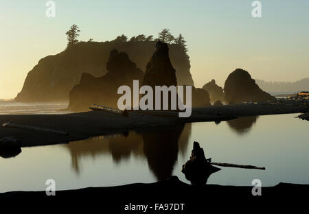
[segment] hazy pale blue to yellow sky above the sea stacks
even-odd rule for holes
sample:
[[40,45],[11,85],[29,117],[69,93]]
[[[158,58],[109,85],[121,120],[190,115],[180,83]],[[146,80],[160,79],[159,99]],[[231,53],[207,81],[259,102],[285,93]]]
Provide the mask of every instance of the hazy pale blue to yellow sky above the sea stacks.
[[251,16],[253,0],[55,0],[55,18],[46,2],[0,0],[0,98],[15,97],[38,60],[65,49],[73,23],[80,40],[183,34],[198,87],[213,78],[223,86],[238,67],[268,81],[309,77],[308,0],[262,0],[262,18]]

